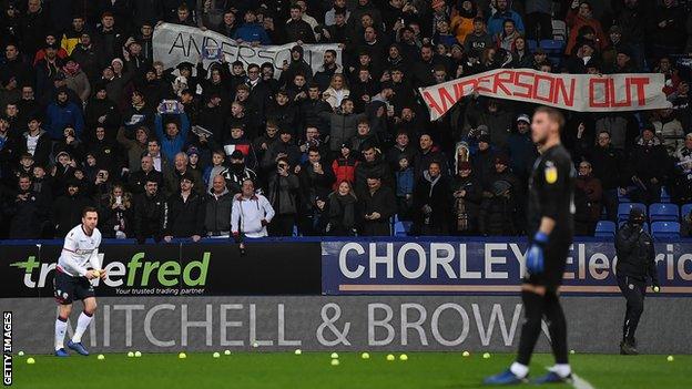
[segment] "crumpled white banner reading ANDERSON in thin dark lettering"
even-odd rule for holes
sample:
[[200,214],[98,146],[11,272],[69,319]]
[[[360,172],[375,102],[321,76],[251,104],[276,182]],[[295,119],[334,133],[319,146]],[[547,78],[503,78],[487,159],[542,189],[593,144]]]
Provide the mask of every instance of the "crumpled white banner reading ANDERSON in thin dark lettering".
[[[275,69],[281,69],[284,60],[291,61],[291,48],[295,45],[295,43],[257,47],[238,44],[233,39],[211,30],[202,31],[194,27],[171,23],[156,27],[153,43],[154,60],[162,61],[166,68],[185,61],[196,63],[205,49],[216,48],[221,49],[227,62],[242,61],[245,64],[258,65],[271,62]],[[338,64],[342,63],[342,49],[337,44],[303,44],[303,50],[305,61],[314,72],[322,66],[327,50],[335,50],[336,61]]]

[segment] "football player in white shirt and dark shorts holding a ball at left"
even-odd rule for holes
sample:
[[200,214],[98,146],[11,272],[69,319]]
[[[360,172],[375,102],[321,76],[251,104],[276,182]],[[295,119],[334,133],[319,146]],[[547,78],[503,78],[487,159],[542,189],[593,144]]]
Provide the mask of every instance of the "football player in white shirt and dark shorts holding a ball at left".
[[96,208],[85,207],[82,211],[82,224],[72,228],[65,236],[62,253],[55,266],[53,285],[55,300],[60,305],[60,314],[55,319],[55,356],[69,357],[63,346],[64,335],[68,329],[68,318],[72,311],[72,301],[82,300],[84,310],[77,321],[77,329],[72,339],[68,340],[68,348],[88,356],[89,351],[82,345],[82,335],[91,323],[91,317],[96,310],[92,279],[104,278],[105,270],[100,269],[99,245],[101,233],[96,229],[99,214]]

